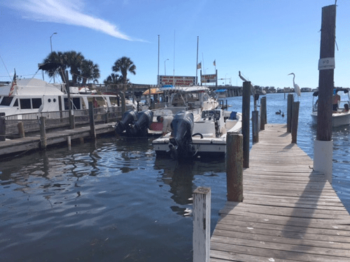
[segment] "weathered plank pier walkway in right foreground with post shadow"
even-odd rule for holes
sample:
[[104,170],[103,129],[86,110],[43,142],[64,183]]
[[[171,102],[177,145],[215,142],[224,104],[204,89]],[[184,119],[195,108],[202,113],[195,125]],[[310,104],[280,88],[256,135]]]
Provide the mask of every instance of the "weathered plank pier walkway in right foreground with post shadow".
[[350,261],[350,216],[286,126],[267,124],[244,170],[244,201],[228,202],[211,260]]

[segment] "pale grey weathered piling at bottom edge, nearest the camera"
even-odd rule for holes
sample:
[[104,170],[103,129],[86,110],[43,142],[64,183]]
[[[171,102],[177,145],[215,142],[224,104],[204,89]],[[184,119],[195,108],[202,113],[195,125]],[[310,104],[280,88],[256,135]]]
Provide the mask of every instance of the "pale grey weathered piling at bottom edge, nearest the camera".
[[193,192],[193,262],[209,262],[211,190],[198,187]]

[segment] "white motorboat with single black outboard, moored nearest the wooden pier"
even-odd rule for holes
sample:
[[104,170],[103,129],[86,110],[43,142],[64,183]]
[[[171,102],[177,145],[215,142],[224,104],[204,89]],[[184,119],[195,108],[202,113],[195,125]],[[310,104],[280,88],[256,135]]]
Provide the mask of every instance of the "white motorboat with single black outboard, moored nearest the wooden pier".
[[224,157],[228,132],[241,131],[241,113],[222,109],[203,110],[202,117],[193,121],[191,112],[174,116],[172,132],[153,140],[157,155],[186,159],[200,155]]

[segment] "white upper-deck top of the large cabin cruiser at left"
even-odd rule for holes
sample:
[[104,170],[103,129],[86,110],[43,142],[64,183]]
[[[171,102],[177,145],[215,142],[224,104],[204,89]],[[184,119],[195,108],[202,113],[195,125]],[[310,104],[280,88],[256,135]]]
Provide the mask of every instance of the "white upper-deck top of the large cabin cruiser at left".
[[[64,94],[61,84],[49,84],[40,79],[27,78],[16,80],[14,92],[12,96],[38,96],[38,95],[57,95],[61,96]],[[10,93],[12,82],[9,85],[0,87],[0,96],[8,96]]]

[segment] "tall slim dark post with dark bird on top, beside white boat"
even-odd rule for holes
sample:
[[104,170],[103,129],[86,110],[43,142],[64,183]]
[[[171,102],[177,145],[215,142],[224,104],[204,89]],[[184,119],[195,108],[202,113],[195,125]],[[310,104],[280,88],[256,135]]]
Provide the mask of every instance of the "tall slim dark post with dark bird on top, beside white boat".
[[251,108],[251,82],[243,82],[242,96],[242,127],[243,134],[243,167],[249,167],[249,119]]

